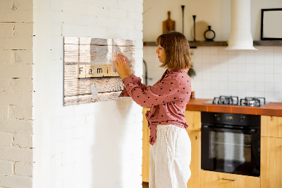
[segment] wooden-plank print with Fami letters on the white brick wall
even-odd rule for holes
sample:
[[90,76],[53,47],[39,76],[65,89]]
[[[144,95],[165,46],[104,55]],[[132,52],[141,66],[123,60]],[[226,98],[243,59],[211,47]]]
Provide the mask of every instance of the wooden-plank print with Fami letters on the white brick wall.
[[135,72],[135,41],[64,37],[64,105],[114,100],[123,90],[112,62],[123,52]]

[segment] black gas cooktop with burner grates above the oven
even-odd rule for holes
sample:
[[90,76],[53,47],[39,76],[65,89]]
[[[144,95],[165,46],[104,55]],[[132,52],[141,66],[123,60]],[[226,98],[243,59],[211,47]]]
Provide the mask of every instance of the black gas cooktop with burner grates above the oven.
[[237,96],[219,96],[219,98],[214,98],[204,102],[205,104],[213,105],[238,105],[238,106],[249,106],[249,107],[262,107],[269,102],[265,101],[265,98],[239,98]]

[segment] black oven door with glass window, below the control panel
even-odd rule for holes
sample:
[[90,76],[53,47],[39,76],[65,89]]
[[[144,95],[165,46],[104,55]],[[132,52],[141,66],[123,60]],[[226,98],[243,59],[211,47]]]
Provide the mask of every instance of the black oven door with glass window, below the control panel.
[[259,129],[202,124],[202,169],[259,177]]

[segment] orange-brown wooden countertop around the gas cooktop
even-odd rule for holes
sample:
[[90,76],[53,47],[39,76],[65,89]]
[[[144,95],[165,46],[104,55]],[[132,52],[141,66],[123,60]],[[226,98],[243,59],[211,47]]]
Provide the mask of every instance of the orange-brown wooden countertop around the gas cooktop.
[[209,100],[212,99],[190,99],[188,105],[186,106],[186,110],[282,116],[282,102],[269,102],[262,107],[204,104],[204,102],[207,102]]

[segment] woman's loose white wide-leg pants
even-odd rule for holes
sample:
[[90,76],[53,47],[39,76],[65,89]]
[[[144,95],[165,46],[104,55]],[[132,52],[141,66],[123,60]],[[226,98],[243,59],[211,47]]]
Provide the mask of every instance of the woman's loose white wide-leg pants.
[[157,139],[149,150],[149,188],[185,188],[191,176],[191,142],[185,129],[157,125]]

